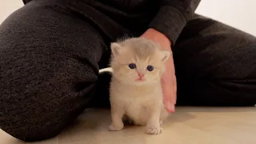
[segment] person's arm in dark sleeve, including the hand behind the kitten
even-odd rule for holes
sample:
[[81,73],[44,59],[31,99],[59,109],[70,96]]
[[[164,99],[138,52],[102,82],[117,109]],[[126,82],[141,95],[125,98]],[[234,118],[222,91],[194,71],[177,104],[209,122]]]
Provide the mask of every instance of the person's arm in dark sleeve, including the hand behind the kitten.
[[158,0],[159,10],[150,27],[142,37],[158,42],[163,50],[171,52],[166,62],[166,71],[162,75],[162,94],[166,110],[175,111],[177,83],[171,46],[190,20],[200,0]]

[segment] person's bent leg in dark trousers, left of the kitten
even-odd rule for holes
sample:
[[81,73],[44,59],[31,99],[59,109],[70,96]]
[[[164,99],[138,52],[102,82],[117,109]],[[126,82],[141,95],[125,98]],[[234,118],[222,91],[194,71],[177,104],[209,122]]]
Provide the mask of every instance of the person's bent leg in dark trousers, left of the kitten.
[[90,23],[43,2],[0,26],[0,128],[24,141],[54,137],[90,106],[106,50]]

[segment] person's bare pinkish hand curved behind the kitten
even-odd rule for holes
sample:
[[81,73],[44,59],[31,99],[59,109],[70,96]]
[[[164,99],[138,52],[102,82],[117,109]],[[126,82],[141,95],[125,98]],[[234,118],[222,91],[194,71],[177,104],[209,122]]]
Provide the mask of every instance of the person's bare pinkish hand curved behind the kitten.
[[177,99],[177,82],[174,70],[174,58],[170,48],[171,42],[166,36],[157,30],[149,29],[142,34],[143,38],[150,39],[162,46],[162,50],[170,51],[170,58],[166,62],[166,71],[162,75],[162,94],[166,110],[174,113]]

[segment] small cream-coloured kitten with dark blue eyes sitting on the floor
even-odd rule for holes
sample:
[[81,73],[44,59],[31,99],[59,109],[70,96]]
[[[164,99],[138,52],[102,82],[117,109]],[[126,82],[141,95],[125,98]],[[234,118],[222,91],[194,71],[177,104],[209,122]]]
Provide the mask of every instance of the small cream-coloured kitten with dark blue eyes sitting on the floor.
[[160,79],[170,52],[146,38],[111,43],[110,82],[112,123],[109,130],[122,130],[122,118],[145,125],[148,134],[160,134],[169,115],[162,102]]

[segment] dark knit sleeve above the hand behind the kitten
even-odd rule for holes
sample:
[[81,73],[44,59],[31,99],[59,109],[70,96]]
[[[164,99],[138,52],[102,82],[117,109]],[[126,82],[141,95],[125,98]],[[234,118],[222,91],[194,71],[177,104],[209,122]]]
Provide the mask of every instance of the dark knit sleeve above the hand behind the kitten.
[[200,0],[159,0],[159,10],[150,22],[150,28],[165,34],[174,45],[199,2]]

